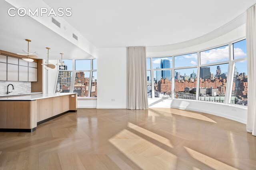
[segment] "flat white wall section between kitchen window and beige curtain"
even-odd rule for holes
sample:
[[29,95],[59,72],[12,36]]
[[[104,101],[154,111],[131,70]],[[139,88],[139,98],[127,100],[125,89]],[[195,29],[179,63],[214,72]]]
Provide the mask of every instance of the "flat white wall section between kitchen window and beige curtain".
[[126,48],[100,48],[97,62],[97,108],[126,109]]

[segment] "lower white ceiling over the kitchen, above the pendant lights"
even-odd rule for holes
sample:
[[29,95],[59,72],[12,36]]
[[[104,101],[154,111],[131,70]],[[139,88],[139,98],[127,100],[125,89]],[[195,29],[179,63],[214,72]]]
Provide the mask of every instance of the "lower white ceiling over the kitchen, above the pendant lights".
[[0,49],[12,53],[23,53],[22,49],[28,49],[25,39],[30,39],[30,52],[36,51],[40,59],[47,59],[46,47],[50,47],[49,59],[60,59],[60,53],[64,53],[64,59],[93,58],[86,51],[67,41],[46,26],[40,24],[29,16],[10,17],[8,8],[12,7],[0,0]]

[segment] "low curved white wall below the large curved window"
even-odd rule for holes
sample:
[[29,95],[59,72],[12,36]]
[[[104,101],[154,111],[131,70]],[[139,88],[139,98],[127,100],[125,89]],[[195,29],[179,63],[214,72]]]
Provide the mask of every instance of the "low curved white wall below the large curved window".
[[230,105],[224,103],[214,103],[205,101],[195,101],[186,99],[148,99],[148,105],[150,108],[154,107],[167,107],[176,109],[186,109],[190,111],[198,111],[225,117],[241,123],[247,122],[247,107],[239,105]]

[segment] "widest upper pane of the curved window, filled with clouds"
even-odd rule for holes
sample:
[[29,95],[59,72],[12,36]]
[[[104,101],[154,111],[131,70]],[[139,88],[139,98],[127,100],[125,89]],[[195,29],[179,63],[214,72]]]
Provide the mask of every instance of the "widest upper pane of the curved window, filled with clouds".
[[209,64],[229,60],[228,45],[200,52],[200,63]]

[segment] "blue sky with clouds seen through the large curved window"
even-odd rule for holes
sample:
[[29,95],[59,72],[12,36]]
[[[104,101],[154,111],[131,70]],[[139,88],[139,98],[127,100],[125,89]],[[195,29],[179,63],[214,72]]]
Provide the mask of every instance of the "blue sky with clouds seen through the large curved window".
[[[246,40],[242,40],[233,44],[234,59],[246,57]],[[153,69],[156,67],[161,67],[161,59],[169,59],[172,65],[172,57],[158,57],[152,58]],[[229,60],[229,49],[228,45],[222,47],[217,47],[214,49],[209,49],[206,51],[200,52],[200,62],[201,64],[216,63],[221,61]],[[174,67],[187,67],[187,66],[196,66],[197,65],[197,53],[191,53],[186,55],[174,56]],[[240,61],[235,64],[237,71],[239,73],[246,73],[247,75],[247,62]],[[216,74],[217,65],[209,66],[210,71]],[[228,73],[228,64],[220,65],[222,73]],[[147,58],[147,69],[150,69],[150,58]],[[180,75],[190,75],[193,72],[193,69],[179,69]],[[197,69],[194,68],[194,72],[197,73]]]

